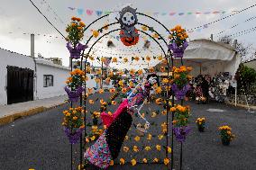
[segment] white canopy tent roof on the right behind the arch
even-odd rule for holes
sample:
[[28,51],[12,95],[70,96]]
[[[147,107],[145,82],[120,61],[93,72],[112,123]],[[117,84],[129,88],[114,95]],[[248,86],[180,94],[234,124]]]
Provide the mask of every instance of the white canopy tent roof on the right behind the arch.
[[[185,50],[183,64],[193,67],[192,76],[215,76],[220,72],[235,75],[241,63],[241,56],[228,44],[212,40],[192,40]],[[180,58],[174,59],[174,66],[180,65]]]

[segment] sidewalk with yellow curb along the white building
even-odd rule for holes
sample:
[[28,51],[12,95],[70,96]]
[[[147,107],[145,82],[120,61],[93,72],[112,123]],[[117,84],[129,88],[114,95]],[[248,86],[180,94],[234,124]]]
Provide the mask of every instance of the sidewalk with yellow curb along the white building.
[[60,95],[47,99],[0,105],[0,125],[10,123],[24,116],[43,112],[65,103],[67,95]]

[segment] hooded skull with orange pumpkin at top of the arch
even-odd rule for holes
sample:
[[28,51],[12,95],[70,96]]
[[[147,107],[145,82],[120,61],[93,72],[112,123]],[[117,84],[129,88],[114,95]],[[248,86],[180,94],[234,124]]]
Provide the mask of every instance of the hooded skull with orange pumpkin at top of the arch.
[[126,6],[120,12],[118,21],[121,24],[120,39],[125,46],[133,46],[139,41],[138,30],[134,25],[138,22],[136,10]]

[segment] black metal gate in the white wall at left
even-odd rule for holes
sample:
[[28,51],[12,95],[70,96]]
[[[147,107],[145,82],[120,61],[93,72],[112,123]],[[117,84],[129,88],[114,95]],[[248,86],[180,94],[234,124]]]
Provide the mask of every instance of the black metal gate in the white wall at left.
[[33,70],[7,66],[7,104],[33,100]]

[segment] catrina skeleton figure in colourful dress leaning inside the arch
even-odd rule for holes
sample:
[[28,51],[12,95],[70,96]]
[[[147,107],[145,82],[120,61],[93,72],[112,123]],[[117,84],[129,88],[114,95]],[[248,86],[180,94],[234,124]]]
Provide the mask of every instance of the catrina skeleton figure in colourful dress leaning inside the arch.
[[[141,116],[142,105],[151,94],[151,87],[158,82],[158,76],[147,76],[144,82],[131,90],[112,115],[101,113],[106,130],[85,152],[85,159],[89,165],[94,166],[95,169],[106,169],[110,166],[111,160],[118,157],[123,140],[132,125],[133,114],[138,113]],[[145,118],[142,119],[146,122],[144,129],[148,130],[150,123]],[[137,128],[141,130],[141,127]]]

